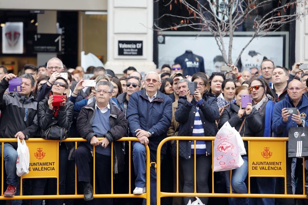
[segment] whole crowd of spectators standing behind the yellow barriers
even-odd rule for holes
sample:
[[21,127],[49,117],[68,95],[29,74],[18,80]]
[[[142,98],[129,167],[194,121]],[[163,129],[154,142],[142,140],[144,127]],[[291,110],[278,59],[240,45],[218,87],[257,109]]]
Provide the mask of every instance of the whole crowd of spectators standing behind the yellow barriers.
[[[225,122],[241,136],[288,137],[290,127],[308,126],[308,73],[295,63],[292,69],[275,66],[264,60],[260,68],[239,73],[213,72],[184,76],[181,65],[163,65],[156,72],[142,76],[134,67],[124,70],[123,77],[103,67],[88,68],[96,80],[95,87],[84,87],[84,70],[80,66],[67,68],[59,58],[51,58],[46,66],[26,64],[19,76],[7,73],[0,66],[0,137],[29,139],[47,138],[51,128],[67,131],[69,137],[82,137],[87,142],[59,143],[59,194],[75,193],[75,166],[78,192],[87,204],[145,204],[146,199],[93,198],[93,161],[95,160],[95,194],[111,193],[111,152],[113,152],[113,193],[128,193],[129,145],[117,141],[136,137],[132,145],[132,193],[146,190],[146,148],[150,162],[156,162],[158,144],[167,136],[216,136]],[[67,79],[61,73],[67,73]],[[9,81],[22,79],[21,92],[10,92]],[[188,84],[195,82],[192,93]],[[252,103],[243,108],[242,95],[252,95]],[[55,105],[55,97],[63,101]],[[298,108],[290,115],[286,108]],[[242,129],[239,129],[242,127]],[[61,132],[62,133],[62,132]],[[99,140],[99,137],[104,137]],[[112,148],[111,148],[112,144]],[[95,146],[95,159],[93,147]],[[244,142],[246,153],[248,144]],[[211,192],[212,141],[179,140],[165,143],[161,149],[162,191],[176,190],[176,155],[179,156],[179,191],[194,192],[194,154],[196,152],[196,187],[198,193]],[[196,150],[194,150],[196,147]],[[20,178],[16,175],[17,143],[4,144],[7,188],[4,196],[20,194]],[[2,146],[0,146],[0,153]],[[286,156],[287,157],[287,156]],[[232,171],[215,172],[215,193],[247,193],[248,154],[244,164]],[[286,160],[287,194],[303,193],[302,160]],[[164,166],[164,164],[166,166]],[[164,174],[170,177],[163,177]],[[308,175],[306,176],[308,192]],[[156,168],[150,168],[150,203],[156,204]],[[24,180],[25,181],[25,180]],[[38,178],[24,185],[23,195],[55,195],[56,179]],[[231,184],[231,187],[230,187]],[[209,186],[210,185],[210,186]],[[171,190],[171,191],[170,191]],[[284,178],[256,177],[251,180],[251,193],[283,194]],[[25,193],[27,192],[27,193]],[[214,203],[200,197],[202,203]],[[78,199],[50,199],[49,204],[74,204]],[[188,204],[193,197],[162,199],[162,204]],[[298,199],[298,203],[303,203]],[[210,202],[211,201],[211,202]],[[12,204],[29,201],[12,200]],[[217,199],[216,203],[219,202]],[[295,204],[294,199],[228,198],[225,204]],[[42,204],[42,199],[31,200]],[[83,203],[83,202],[78,202]],[[223,204],[223,203],[221,203]]]

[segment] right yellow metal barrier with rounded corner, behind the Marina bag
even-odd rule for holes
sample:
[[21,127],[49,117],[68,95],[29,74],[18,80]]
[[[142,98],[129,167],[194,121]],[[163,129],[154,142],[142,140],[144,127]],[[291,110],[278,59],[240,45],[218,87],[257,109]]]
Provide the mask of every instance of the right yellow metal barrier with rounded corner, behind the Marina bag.
[[[185,196],[198,196],[198,197],[252,197],[252,198],[298,198],[298,199],[307,199],[305,194],[305,182],[303,183],[303,194],[302,195],[293,195],[287,194],[286,192],[286,141],[288,141],[287,137],[242,137],[243,140],[248,141],[248,193],[247,194],[233,194],[232,188],[230,188],[231,193],[214,193],[214,172],[212,171],[212,193],[197,193],[196,187],[196,141],[197,140],[212,140],[212,168],[214,164],[213,156],[214,156],[214,140],[215,137],[184,137],[184,136],[176,136],[176,137],[167,137],[160,142],[157,148],[157,205],[160,205],[160,198],[162,197],[185,197]],[[160,152],[164,143],[170,140],[176,140],[176,192],[161,192],[160,191]],[[194,193],[179,193],[179,140],[194,140]],[[279,167],[277,169],[281,169],[281,172],[274,170],[276,173],[268,175],[270,177],[284,177],[285,179],[285,194],[251,194],[250,193],[250,177],[258,177],[263,175],[256,175],[252,172],[252,165],[250,164],[252,158],[253,149],[250,148],[251,142],[265,142],[263,144],[263,148],[268,148],[268,143],[283,143],[283,150],[280,150],[280,155],[283,156],[283,167]],[[266,155],[266,153],[265,153]],[[268,154],[270,155],[270,154]],[[305,180],[305,159],[303,158],[303,180]],[[274,168],[273,168],[274,169]]]

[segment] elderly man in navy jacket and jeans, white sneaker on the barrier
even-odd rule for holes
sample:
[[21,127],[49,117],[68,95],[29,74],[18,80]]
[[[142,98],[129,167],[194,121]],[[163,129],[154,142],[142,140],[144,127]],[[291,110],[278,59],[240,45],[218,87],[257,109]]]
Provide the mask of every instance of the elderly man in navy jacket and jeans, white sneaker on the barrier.
[[[135,166],[134,194],[142,194],[146,185],[146,151],[150,148],[150,161],[156,162],[158,144],[163,140],[172,118],[172,100],[160,93],[161,82],[157,73],[149,72],[145,77],[145,89],[132,93],[128,109],[128,126],[132,136],[138,137],[139,142],[133,142],[133,162]],[[161,159],[166,154],[166,144],[161,149]],[[151,167],[151,204],[156,204],[156,172]],[[144,202],[145,204],[145,199]]]

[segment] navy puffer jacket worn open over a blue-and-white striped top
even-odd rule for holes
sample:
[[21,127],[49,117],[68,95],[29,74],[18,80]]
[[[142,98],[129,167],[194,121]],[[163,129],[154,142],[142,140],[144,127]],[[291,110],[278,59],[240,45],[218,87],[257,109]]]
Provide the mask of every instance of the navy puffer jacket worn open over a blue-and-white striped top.
[[[178,136],[192,136],[195,122],[197,102],[192,101],[193,105],[187,104],[186,96],[180,97],[178,107],[175,112],[175,119],[180,123]],[[216,136],[217,127],[215,120],[219,118],[217,98],[203,95],[203,102],[199,106],[199,115],[202,121],[205,136]],[[212,141],[205,141],[206,152],[212,153]],[[176,143],[173,144],[173,154],[175,155]],[[191,157],[191,140],[179,140],[179,156],[185,159]]]

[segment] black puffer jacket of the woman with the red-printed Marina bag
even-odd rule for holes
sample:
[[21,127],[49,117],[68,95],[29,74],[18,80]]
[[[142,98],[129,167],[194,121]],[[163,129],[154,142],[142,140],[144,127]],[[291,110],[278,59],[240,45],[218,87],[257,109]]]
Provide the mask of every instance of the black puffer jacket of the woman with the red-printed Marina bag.
[[[241,136],[243,137],[254,137],[257,136],[258,132],[262,130],[262,117],[260,116],[259,111],[255,108],[252,109],[249,115],[244,114],[242,118],[237,116],[238,110],[240,109],[237,104],[233,103],[229,108],[225,108],[224,112],[221,115],[219,121],[219,128],[221,128],[225,122],[229,122],[231,127],[234,127],[237,131],[240,129],[241,124],[246,118],[244,126],[241,129]],[[246,153],[248,153],[248,142],[244,141],[244,146]]]

